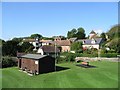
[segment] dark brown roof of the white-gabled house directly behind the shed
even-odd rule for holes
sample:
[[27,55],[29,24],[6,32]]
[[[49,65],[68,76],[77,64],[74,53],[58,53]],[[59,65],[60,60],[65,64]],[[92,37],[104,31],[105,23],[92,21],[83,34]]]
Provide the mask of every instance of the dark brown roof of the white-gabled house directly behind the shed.
[[[42,47],[40,47],[44,52],[51,52],[54,53],[55,52],[55,46],[51,46],[51,45],[44,45]],[[60,50],[56,47],[56,52],[60,52]]]

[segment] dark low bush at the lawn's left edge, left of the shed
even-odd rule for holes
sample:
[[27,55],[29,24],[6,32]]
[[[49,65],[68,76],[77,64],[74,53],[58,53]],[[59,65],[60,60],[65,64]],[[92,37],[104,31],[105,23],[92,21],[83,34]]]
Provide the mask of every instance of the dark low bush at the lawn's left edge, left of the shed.
[[17,61],[13,60],[11,57],[2,58],[2,68],[16,66]]

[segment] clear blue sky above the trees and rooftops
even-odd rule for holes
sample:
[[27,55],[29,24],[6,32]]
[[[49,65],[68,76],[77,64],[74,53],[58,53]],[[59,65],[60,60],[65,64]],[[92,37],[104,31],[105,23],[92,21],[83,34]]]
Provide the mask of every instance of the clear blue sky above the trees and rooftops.
[[117,2],[3,2],[4,40],[41,34],[63,35],[82,27],[86,36],[94,30],[107,32],[118,23]]

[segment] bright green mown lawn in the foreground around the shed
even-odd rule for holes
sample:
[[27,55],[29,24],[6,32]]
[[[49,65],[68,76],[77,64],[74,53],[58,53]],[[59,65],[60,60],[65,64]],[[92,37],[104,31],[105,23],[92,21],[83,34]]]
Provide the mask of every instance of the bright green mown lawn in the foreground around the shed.
[[17,67],[2,69],[2,88],[117,88],[117,62],[90,62],[96,68],[81,68],[75,63],[57,66],[69,69],[28,76]]

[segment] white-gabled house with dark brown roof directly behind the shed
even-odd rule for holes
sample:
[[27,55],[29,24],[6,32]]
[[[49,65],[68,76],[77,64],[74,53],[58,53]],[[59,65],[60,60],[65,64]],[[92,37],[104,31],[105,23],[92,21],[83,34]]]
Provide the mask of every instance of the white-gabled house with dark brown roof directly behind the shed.
[[50,55],[54,57],[55,54],[58,55],[60,53],[60,50],[52,45],[44,45],[38,49],[37,53],[41,55]]

